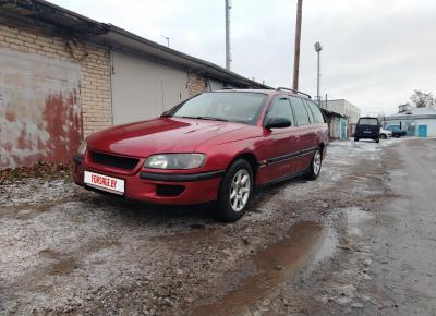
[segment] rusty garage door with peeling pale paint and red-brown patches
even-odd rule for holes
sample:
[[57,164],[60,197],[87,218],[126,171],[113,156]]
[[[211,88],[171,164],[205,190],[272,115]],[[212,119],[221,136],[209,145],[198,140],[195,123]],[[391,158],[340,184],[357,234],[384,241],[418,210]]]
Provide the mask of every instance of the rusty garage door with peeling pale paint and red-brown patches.
[[71,161],[82,138],[78,65],[0,49],[0,169]]

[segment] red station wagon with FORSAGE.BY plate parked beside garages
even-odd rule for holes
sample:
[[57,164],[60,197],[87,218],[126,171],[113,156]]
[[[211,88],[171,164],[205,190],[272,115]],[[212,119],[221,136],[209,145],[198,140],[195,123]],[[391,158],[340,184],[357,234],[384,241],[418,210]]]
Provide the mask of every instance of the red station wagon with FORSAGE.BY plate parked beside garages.
[[323,113],[307,95],[225,89],[90,135],[74,157],[74,180],[156,204],[218,200],[218,215],[232,221],[256,187],[303,174],[315,180],[327,143]]

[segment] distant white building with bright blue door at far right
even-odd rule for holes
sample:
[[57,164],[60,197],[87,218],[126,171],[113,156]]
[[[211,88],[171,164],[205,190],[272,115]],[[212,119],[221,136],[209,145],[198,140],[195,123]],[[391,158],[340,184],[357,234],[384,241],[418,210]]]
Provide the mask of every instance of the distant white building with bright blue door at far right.
[[436,137],[436,110],[401,105],[398,113],[384,117],[383,125],[403,130],[408,136]]

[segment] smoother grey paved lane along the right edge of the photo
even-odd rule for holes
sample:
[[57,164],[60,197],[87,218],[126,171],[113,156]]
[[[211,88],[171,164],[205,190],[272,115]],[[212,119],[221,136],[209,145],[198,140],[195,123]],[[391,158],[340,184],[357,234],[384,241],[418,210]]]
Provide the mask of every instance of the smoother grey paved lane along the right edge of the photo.
[[376,209],[374,291],[396,315],[436,315],[436,139],[412,139],[385,153],[395,197]]

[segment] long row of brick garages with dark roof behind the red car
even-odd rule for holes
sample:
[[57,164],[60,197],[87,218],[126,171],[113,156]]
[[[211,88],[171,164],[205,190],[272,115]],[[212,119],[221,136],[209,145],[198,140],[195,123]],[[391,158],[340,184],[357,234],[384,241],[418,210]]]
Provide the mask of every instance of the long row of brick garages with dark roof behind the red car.
[[204,90],[267,88],[43,0],[0,1],[0,169],[69,161],[89,134]]

